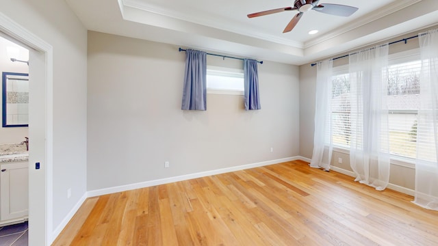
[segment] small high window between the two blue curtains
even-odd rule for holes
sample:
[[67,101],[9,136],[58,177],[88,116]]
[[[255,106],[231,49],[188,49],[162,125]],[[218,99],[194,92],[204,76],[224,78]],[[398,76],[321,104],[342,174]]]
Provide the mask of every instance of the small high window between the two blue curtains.
[[244,71],[207,67],[207,93],[243,95]]

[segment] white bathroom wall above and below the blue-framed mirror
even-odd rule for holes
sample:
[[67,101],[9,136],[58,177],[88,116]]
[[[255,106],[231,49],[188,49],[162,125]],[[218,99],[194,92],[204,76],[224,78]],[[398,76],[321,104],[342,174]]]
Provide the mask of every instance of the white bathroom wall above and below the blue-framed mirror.
[[[8,57],[8,53],[6,52],[6,48],[8,46],[13,46],[18,49],[20,57],[14,57],[14,58],[22,59],[23,61],[27,61],[27,59],[29,59],[29,51],[27,51],[27,49],[18,46],[17,44],[11,42],[10,40],[0,37],[0,74],[1,72],[29,73],[29,66],[27,66],[27,64],[23,62],[12,62],[10,60],[10,57]],[[0,89],[0,104],[3,100],[2,96],[3,93],[1,93],[1,89]],[[0,122],[2,120],[1,119],[2,115],[3,115],[3,111],[0,105]],[[25,140],[25,137],[29,136],[28,133],[29,131],[27,127],[0,127],[0,144],[20,143],[21,141]]]

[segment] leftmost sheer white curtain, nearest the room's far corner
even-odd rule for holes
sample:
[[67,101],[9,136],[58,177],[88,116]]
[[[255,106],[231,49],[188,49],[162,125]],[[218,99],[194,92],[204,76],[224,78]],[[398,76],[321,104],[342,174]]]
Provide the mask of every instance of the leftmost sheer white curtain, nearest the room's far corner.
[[317,64],[315,98],[315,132],[313,136],[313,154],[311,167],[330,169],[331,141],[331,90],[333,61],[326,60]]

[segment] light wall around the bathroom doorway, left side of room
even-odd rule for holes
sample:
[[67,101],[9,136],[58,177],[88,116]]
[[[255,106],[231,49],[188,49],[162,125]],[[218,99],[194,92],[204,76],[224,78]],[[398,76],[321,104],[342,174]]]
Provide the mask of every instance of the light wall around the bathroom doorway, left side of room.
[[86,193],[87,31],[64,1],[1,1],[0,10],[53,46],[55,229]]

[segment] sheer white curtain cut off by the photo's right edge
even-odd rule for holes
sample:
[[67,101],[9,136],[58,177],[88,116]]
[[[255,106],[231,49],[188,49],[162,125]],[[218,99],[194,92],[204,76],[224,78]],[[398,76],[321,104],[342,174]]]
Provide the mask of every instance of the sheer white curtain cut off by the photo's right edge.
[[420,109],[414,203],[438,210],[438,30],[420,33]]

